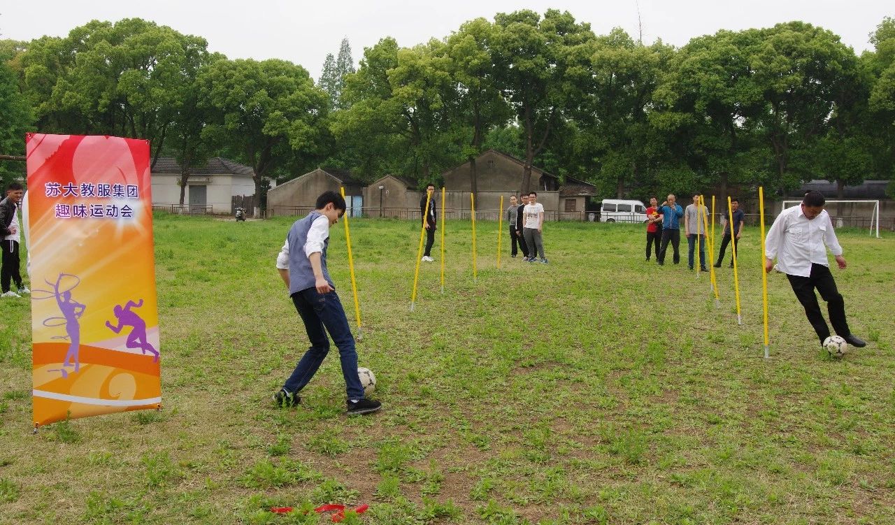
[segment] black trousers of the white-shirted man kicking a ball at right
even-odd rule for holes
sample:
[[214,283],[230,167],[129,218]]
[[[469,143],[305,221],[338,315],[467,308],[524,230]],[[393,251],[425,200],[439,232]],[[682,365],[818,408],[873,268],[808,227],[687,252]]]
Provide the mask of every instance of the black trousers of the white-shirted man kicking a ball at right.
[[829,267],[812,264],[811,276],[787,275],[787,278],[789,285],[792,286],[792,291],[796,292],[798,301],[805,307],[805,316],[811,326],[814,326],[814,332],[817,333],[821,343],[830,336],[830,328],[823,319],[817,296],[814,295],[815,288],[821,294],[823,301],[827,302],[827,313],[830,314],[830,323],[836,334],[840,334],[842,337],[851,334],[845,318],[845,300],[842,299],[842,295],[836,288],[836,281],[833,280]]

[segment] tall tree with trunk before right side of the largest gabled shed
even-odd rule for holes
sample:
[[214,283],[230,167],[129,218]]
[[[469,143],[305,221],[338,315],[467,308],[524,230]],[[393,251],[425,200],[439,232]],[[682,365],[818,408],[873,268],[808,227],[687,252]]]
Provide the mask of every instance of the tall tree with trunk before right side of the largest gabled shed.
[[499,13],[494,20],[490,49],[495,83],[524,131],[521,190],[529,191],[534,157],[584,97],[590,81],[587,50],[594,36],[589,24],[553,9],[543,18],[524,10]]

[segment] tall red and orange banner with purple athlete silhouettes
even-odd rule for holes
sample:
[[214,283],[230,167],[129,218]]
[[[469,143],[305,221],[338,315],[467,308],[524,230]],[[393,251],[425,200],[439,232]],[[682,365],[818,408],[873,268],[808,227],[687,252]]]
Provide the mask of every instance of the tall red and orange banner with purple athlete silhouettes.
[[149,142],[27,135],[34,426],[161,406]]

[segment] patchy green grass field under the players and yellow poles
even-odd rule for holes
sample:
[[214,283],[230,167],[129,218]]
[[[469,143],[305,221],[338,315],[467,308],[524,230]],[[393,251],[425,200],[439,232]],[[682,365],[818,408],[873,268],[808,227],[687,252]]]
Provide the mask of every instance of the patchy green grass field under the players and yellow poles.
[[[0,523],[325,523],[272,505],[370,504],[346,523],[895,523],[895,237],[840,232],[835,271],[865,349],[832,360],[759,232],[733,278],[644,262],[642,226],[544,228],[550,265],[497,224],[447,223],[447,285],[418,225],[351,222],[361,366],[377,414],[348,419],[334,348],[303,391],[270,395],[307,347],[273,267],[291,220],[156,217],[162,411],[30,434],[30,308],[0,309]],[[506,233],[505,233],[506,235]],[[436,250],[439,249],[438,242]],[[433,250],[433,255],[435,255]],[[354,326],[342,224],[329,268]]]

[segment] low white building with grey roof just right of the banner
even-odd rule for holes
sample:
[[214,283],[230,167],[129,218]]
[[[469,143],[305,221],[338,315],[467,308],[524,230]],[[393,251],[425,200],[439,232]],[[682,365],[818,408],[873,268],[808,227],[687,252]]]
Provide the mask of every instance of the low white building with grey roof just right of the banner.
[[[152,168],[152,206],[175,210],[180,205],[180,172],[174,157],[158,159]],[[194,213],[230,214],[234,197],[255,194],[252,174],[247,165],[212,157],[204,167],[190,171],[183,207]]]

